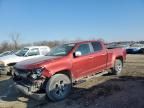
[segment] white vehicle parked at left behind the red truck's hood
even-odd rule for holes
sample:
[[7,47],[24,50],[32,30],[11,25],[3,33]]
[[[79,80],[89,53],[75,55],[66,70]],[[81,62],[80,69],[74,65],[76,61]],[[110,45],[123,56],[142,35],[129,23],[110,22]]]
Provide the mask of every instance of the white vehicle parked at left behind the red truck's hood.
[[0,57],[0,74],[12,72],[12,67],[20,61],[46,55],[50,51],[48,46],[24,47],[15,54]]

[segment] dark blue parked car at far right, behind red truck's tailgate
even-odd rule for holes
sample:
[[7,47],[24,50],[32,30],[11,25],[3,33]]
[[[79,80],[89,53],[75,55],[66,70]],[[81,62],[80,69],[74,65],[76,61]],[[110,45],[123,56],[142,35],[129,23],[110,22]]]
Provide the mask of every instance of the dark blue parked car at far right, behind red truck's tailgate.
[[144,48],[143,44],[133,44],[126,51],[128,54],[137,54],[141,52],[141,49]]

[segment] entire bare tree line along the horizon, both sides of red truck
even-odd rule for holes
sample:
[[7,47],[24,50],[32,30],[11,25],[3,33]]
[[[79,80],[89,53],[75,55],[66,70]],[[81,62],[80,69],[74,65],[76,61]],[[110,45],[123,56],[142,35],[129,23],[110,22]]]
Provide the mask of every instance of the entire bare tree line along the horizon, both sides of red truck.
[[[72,42],[76,42],[76,41],[81,41],[83,39],[81,38],[77,38],[75,40],[73,40]],[[100,40],[103,41],[105,43],[106,42],[104,39],[89,39],[89,40]],[[3,41],[0,43],[0,53],[4,52],[4,51],[17,51],[20,48],[26,47],[26,46],[49,46],[50,48],[55,47],[57,45],[63,44],[63,43],[68,43],[71,42],[71,40],[53,40],[53,41],[38,41],[38,42],[33,42],[33,43],[27,43],[27,44],[22,44],[20,42],[20,34],[19,33],[15,33],[15,34],[11,34],[10,35],[10,40],[9,41]],[[144,41],[121,41],[121,42],[112,42],[112,43],[116,43],[116,44],[124,44],[124,43],[141,43],[144,44]]]

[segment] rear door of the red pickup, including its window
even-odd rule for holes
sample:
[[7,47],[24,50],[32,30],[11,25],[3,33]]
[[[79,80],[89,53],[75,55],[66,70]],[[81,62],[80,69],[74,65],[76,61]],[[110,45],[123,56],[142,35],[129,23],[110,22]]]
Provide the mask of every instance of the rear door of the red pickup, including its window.
[[103,48],[101,42],[91,42],[94,50],[94,70],[96,72],[106,69],[107,66],[107,51]]

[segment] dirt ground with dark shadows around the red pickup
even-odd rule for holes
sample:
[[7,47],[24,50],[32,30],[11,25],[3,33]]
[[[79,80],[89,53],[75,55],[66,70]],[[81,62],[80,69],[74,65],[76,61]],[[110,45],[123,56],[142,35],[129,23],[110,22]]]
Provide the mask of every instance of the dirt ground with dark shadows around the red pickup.
[[0,108],[144,108],[144,55],[128,55],[121,76],[92,78],[60,102],[36,101],[16,92],[10,77],[0,77]]

